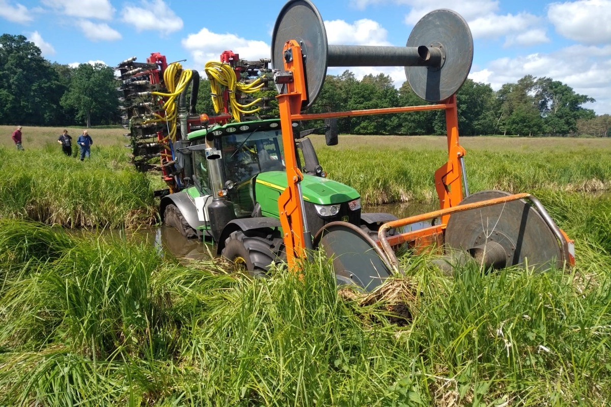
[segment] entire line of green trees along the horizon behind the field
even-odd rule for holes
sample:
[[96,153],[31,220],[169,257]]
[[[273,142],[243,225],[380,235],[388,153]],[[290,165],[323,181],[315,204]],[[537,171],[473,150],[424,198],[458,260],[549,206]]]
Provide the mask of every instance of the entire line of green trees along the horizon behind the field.
[[[70,67],[49,62],[23,35],[0,36],[0,124],[68,126],[119,124],[118,79],[114,69],[97,63]],[[271,85],[273,90],[273,85]],[[209,82],[200,83],[199,112],[213,114]],[[265,93],[273,93],[268,90]],[[524,76],[492,90],[467,79],[456,94],[461,135],[574,136],[611,135],[610,115],[583,105],[593,102],[549,77]],[[386,74],[360,81],[351,71],[327,75],[312,113],[426,104],[408,82],[397,89]],[[277,112],[277,110],[275,110]],[[274,110],[266,112],[274,114]],[[277,114],[277,113],[276,113]],[[344,134],[444,134],[441,110],[340,118]]]

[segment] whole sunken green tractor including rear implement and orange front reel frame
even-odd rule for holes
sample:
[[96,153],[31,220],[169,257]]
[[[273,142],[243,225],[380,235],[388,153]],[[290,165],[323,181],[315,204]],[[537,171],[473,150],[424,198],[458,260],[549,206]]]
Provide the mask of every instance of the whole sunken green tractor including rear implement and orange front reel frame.
[[[221,63],[207,64],[214,110],[224,114],[197,115],[196,71],[168,65],[160,54],[142,64],[125,60],[117,69],[134,164],[150,168],[155,165],[147,160],[160,159],[156,167],[168,185],[159,195],[163,222],[186,237],[213,240],[217,254],[253,275],[284,261],[300,270],[319,248],[331,259],[338,285],[367,291],[401,275],[397,251],[404,247],[433,249],[452,264],[473,259],[485,269],[571,267],[573,240],[535,196],[469,192],[456,92],[472,59],[469,26],[452,10],[423,16],[405,47],[329,45],[315,5],[289,0],[274,26],[271,60],[241,62],[226,51]],[[412,90],[429,104],[306,113],[323,88],[327,67],[359,66],[405,67]],[[253,108],[274,98],[248,97],[271,81],[279,118],[263,115],[266,106]],[[316,129],[296,129],[298,123],[324,120],[327,145],[335,145],[337,118],[423,110],[444,110],[448,160],[434,173],[439,210],[404,219],[362,213],[356,190],[326,178],[307,139]]]

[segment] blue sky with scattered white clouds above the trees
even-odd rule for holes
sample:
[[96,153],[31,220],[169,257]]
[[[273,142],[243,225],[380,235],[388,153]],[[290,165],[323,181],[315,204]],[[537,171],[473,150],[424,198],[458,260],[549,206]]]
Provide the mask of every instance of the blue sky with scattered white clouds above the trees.
[[[269,57],[285,0],[0,0],[0,33],[22,34],[59,63],[115,66],[151,52],[203,73],[225,49]],[[611,0],[313,0],[329,44],[404,46],[433,9],[460,13],[474,37],[469,77],[498,90],[526,74],[551,77],[596,99],[584,107],[611,114]],[[329,68],[357,77],[386,73],[399,87],[403,68]]]

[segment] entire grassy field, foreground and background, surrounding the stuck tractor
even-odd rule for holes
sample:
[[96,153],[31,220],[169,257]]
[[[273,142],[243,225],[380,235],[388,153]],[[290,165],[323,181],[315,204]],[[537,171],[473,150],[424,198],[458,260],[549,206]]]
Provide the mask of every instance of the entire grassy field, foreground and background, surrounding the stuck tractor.
[[[67,234],[156,214],[122,129],[93,129],[85,162],[62,156],[61,130],[24,128],[18,152],[2,128],[0,406],[609,405],[611,140],[463,137],[470,190],[534,193],[577,267],[446,275],[404,256],[376,301],[338,292],[318,256],[252,280]],[[445,138],[314,139],[365,204],[435,202]]]

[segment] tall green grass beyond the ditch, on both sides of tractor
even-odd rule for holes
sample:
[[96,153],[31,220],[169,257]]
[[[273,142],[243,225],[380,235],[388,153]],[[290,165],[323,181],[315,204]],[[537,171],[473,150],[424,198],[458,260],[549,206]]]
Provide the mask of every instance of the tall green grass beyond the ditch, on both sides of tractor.
[[[379,149],[375,136],[357,139],[362,140],[342,148],[319,145],[318,156],[329,178],[354,187],[364,206],[437,202],[434,171],[447,160],[441,148],[444,137],[425,137],[439,144],[430,147],[420,143],[410,148],[394,140],[394,144],[382,142]],[[477,147],[478,138],[466,140]],[[510,149],[506,138],[481,138],[482,146],[468,152],[471,192],[611,189],[611,148],[583,148],[576,142],[573,148],[565,146],[570,151],[562,154],[554,140],[549,145],[535,139],[512,140],[522,147]],[[121,146],[94,147],[92,159],[81,163],[63,156],[52,143],[24,152],[0,147],[5,170],[0,179],[0,217],[67,227],[150,224],[156,216],[153,190],[163,182],[159,176],[137,173],[126,155]]]

